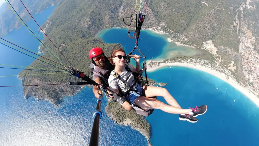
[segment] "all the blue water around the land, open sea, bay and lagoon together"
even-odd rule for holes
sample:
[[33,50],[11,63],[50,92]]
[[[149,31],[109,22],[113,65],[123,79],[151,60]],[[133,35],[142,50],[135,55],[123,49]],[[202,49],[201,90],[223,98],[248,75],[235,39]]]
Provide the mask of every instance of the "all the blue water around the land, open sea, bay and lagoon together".
[[[55,6],[49,7],[35,14],[34,18],[42,25],[54,9]],[[32,20],[26,23],[34,34],[43,39],[43,34]],[[105,29],[96,37],[102,38],[106,43],[121,43],[126,52],[135,46],[135,40],[128,38],[126,29]],[[35,52],[40,45],[24,26],[9,32],[3,38]],[[143,30],[139,48],[147,59],[168,58],[178,52],[200,53],[169,43],[166,38],[166,35]],[[2,44],[0,46],[0,64],[28,66],[34,61]],[[18,75],[19,72],[20,70],[0,68],[0,76]],[[165,88],[182,108],[203,104],[208,106],[206,114],[198,116],[197,123],[179,121],[178,115],[154,110],[146,118],[151,125],[152,145],[258,145],[259,108],[231,85],[205,72],[184,67],[165,67],[148,72],[147,75],[157,82],[167,82]],[[0,77],[0,86],[5,85],[21,85],[21,81],[17,77]],[[91,88],[83,88],[76,95],[63,98],[60,107],[55,107],[46,100],[37,101],[33,97],[25,100],[22,87],[0,87],[0,93],[1,146],[88,145],[93,124],[92,114],[97,104]],[[165,102],[163,97],[158,99]],[[139,131],[111,120],[105,112],[106,105],[107,99],[103,98],[99,145],[147,145],[146,138]]]

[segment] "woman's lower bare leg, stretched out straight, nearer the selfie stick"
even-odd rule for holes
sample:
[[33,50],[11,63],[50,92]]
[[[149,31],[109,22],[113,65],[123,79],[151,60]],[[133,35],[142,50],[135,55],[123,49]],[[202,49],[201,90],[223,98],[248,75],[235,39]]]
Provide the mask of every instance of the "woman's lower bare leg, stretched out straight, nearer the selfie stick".
[[190,111],[189,109],[177,108],[171,105],[164,104],[157,99],[145,96],[138,97],[134,103],[144,109],[161,109],[162,111],[171,114],[189,114]]

